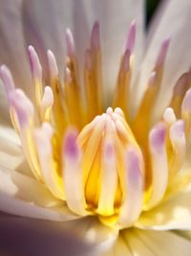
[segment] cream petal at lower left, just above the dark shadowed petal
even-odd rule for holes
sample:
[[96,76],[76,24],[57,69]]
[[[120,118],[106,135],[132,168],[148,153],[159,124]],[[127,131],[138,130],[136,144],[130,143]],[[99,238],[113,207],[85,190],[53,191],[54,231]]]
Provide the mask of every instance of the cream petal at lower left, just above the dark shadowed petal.
[[0,210],[9,214],[52,221],[77,219],[45,185],[32,177],[0,166]]

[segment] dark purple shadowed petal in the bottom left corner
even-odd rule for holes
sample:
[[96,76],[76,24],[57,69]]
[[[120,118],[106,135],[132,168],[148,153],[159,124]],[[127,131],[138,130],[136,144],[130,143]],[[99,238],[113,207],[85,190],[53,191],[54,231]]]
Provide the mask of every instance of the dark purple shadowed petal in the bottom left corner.
[[0,255],[92,255],[92,244],[80,240],[71,229],[69,222],[36,221],[0,213]]

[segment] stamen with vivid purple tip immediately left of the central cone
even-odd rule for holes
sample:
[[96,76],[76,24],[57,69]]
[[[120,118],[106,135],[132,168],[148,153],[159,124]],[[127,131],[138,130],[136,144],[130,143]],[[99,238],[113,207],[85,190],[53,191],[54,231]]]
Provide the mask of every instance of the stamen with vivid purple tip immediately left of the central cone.
[[65,135],[63,144],[63,180],[69,208],[78,215],[87,215],[84,197],[82,152],[76,143],[77,133],[72,128]]

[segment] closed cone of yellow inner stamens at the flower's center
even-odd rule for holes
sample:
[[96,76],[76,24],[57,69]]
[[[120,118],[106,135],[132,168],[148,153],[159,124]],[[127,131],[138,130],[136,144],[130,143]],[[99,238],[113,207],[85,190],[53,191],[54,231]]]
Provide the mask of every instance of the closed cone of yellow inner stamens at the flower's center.
[[[130,189],[127,183],[131,182],[131,175],[135,175],[134,178],[137,176],[136,182],[140,182],[137,193],[141,194],[139,197],[142,196],[141,152],[120,108],[113,111],[109,107],[106,113],[96,116],[82,129],[77,143],[83,152],[81,169],[88,211],[102,218],[118,216],[121,204],[127,198],[127,190]],[[129,170],[125,158],[131,158],[132,163],[128,165],[137,165],[132,166],[134,170]]]

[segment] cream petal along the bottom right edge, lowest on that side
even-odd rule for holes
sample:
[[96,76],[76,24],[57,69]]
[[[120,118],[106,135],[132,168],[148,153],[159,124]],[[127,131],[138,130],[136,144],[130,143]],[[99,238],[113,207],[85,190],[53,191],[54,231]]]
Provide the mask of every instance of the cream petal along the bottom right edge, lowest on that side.
[[191,241],[170,231],[120,231],[117,242],[100,256],[190,256]]

